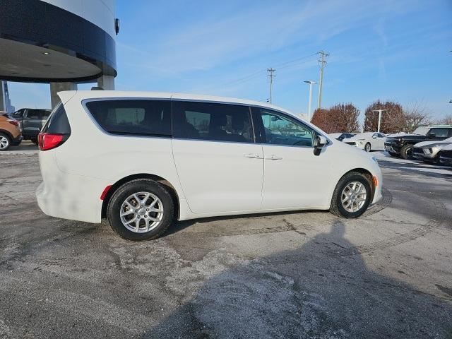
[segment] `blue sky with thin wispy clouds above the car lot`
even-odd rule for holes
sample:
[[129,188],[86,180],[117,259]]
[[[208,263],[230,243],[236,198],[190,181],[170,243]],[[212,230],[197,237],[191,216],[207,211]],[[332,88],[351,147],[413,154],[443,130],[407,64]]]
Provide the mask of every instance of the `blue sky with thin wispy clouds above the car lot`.
[[[323,50],[322,107],[352,102],[362,120],[379,99],[452,114],[452,0],[117,0],[116,16],[117,90],[266,101],[273,67],[273,104],[307,113],[303,81],[319,81]],[[8,86],[16,109],[50,107],[49,85]]]

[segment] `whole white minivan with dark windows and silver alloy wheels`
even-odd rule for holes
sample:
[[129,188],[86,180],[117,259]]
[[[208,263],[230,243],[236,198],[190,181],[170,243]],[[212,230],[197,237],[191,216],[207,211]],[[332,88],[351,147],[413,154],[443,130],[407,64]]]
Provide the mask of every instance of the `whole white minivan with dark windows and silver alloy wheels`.
[[381,198],[374,157],[263,102],[65,91],[40,136],[37,203],[131,240],[175,220],[283,210],[362,215]]

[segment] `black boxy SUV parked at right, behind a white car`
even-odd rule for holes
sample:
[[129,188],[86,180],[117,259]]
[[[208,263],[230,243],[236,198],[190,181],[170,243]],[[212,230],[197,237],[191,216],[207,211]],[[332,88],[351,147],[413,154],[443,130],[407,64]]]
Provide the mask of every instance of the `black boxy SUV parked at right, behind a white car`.
[[[417,132],[417,133],[416,133]],[[413,134],[386,138],[384,147],[393,157],[412,157],[412,149],[422,141],[444,140],[452,136],[452,125],[433,125],[420,127]]]

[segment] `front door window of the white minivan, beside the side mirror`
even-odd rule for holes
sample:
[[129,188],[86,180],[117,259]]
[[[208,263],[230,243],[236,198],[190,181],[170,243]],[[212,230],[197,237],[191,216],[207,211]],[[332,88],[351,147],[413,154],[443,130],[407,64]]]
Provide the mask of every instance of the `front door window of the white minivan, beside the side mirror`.
[[313,147],[314,131],[295,119],[278,112],[261,109],[265,143]]

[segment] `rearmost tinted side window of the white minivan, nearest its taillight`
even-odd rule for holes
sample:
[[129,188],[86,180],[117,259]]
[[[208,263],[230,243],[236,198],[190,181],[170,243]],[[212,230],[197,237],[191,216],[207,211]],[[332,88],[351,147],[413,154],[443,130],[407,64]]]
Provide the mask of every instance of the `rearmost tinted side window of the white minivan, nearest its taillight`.
[[171,136],[169,100],[94,100],[86,107],[105,131],[137,136]]

